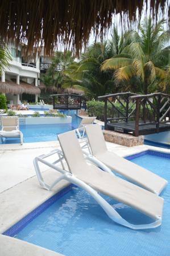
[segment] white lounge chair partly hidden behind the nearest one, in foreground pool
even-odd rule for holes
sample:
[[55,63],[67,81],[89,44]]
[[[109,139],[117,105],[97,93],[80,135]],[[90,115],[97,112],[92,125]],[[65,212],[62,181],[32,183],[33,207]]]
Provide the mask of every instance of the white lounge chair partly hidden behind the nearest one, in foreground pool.
[[128,180],[157,195],[163,191],[168,184],[167,180],[107,150],[105,138],[99,125],[86,126],[85,130],[93,155],[89,155],[89,158],[93,163],[101,166],[102,162],[111,171],[125,176]]

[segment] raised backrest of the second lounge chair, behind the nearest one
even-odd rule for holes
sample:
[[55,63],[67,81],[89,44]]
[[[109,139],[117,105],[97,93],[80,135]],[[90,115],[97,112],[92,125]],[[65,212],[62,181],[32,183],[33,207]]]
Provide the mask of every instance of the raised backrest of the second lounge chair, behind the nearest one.
[[85,126],[85,130],[94,156],[107,151],[105,138],[100,125],[87,125]]

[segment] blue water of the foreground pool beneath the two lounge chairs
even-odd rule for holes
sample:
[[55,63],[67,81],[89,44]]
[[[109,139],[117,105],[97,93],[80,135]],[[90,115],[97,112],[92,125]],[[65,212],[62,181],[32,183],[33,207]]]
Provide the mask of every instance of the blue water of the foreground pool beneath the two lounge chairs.
[[[170,182],[170,156],[165,158],[148,152],[131,161]],[[161,196],[164,198],[162,225],[150,230],[131,230],[111,221],[88,193],[72,188],[15,237],[67,256],[168,256],[169,184]],[[126,205],[105,198],[128,221],[138,224],[150,221]]]

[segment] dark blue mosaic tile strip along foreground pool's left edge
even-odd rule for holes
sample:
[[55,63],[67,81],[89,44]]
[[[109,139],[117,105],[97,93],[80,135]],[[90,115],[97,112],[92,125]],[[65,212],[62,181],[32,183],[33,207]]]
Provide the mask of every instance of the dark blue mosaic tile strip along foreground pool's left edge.
[[22,230],[28,223],[34,220],[34,218],[36,218],[40,213],[44,212],[45,209],[47,209],[50,205],[55,203],[55,201],[59,200],[60,197],[68,193],[72,189],[72,187],[73,185],[69,185],[68,187],[56,193],[56,195],[50,197],[43,204],[39,205],[39,207],[35,208],[34,210],[32,210],[32,212],[28,213],[27,216],[23,217],[16,224],[7,229],[3,234],[6,236],[14,237],[15,234],[18,234],[20,230]]

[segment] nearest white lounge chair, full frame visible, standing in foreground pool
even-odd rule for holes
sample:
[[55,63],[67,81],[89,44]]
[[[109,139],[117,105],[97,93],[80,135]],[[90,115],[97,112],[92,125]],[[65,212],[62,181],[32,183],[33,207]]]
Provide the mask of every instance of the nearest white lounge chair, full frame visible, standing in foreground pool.
[[[161,225],[161,216],[164,204],[164,200],[161,197],[115,175],[101,171],[98,167],[86,162],[74,131],[60,134],[58,138],[63,152],[60,150],[54,150],[47,155],[42,155],[34,159],[35,171],[40,185],[42,185],[43,188],[51,190],[61,180],[67,180],[88,192],[103,208],[103,210],[105,210],[106,214],[118,224],[127,226],[131,229],[156,228]],[[48,156],[56,153],[59,155],[59,160],[56,160],[54,163],[50,163],[45,160]],[[63,157],[67,162],[69,171],[64,168],[64,164],[62,162]],[[56,165],[59,161],[61,161],[63,168]],[[46,164],[57,172],[60,172],[61,175],[54,180],[53,184],[45,184],[40,172],[39,162]],[[139,210],[151,218],[154,218],[154,222],[142,225],[129,223],[122,218],[119,213],[109,203],[107,203],[101,195],[99,195],[98,192],[110,196],[113,199]]]

